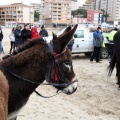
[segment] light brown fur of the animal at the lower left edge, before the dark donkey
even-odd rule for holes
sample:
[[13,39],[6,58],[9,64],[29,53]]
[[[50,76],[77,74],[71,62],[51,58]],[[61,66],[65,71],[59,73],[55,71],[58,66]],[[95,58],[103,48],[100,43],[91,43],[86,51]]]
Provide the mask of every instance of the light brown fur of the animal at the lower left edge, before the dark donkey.
[[0,120],[7,120],[8,113],[8,81],[0,72]]

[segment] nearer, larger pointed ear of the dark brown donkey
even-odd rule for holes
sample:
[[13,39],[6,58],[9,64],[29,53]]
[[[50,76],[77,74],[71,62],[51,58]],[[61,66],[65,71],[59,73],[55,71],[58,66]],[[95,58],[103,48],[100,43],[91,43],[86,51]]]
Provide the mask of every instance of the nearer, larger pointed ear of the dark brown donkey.
[[78,24],[76,24],[74,26],[74,28],[72,30],[70,30],[69,32],[67,32],[65,35],[58,37],[59,40],[59,53],[61,53],[65,47],[68,45],[68,43],[70,42],[70,40],[73,38],[73,35],[76,31],[78,27]]

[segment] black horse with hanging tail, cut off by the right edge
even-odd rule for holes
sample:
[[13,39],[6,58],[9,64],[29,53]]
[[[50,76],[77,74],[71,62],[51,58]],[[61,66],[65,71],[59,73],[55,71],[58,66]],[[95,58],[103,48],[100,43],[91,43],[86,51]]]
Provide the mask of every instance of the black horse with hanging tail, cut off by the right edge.
[[120,89],[120,30],[114,35],[114,53],[111,59],[110,65],[108,66],[108,75],[111,76],[116,66],[116,77],[118,89]]

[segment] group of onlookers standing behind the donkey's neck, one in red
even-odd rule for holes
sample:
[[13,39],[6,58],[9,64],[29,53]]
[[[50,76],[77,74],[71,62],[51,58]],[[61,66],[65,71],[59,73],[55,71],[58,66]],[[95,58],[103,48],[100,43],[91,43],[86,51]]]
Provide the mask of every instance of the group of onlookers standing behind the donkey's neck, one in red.
[[[38,31],[37,27],[30,27],[29,24],[25,24],[23,29],[19,25],[17,27],[13,27],[11,33],[9,34],[10,46],[11,46],[9,54],[11,54],[16,47],[23,44],[27,40],[40,38],[41,36],[48,37],[48,32],[45,29],[45,26],[42,26],[40,31]],[[3,37],[4,37],[3,31],[2,28],[0,27],[0,55],[3,52],[3,45],[2,45]]]

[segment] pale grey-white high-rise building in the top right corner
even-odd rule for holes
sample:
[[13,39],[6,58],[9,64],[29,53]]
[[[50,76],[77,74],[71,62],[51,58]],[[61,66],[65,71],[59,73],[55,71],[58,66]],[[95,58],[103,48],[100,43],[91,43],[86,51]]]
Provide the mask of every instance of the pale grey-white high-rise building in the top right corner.
[[120,21],[120,0],[96,0],[96,10],[101,9],[109,15],[107,22]]

